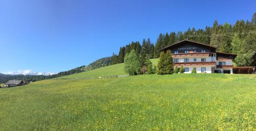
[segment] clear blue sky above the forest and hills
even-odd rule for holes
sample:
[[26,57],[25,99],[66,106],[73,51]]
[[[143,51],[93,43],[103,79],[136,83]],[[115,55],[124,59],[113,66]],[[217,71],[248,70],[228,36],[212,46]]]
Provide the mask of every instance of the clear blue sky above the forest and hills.
[[251,19],[256,1],[0,0],[0,72],[66,71],[159,33]]

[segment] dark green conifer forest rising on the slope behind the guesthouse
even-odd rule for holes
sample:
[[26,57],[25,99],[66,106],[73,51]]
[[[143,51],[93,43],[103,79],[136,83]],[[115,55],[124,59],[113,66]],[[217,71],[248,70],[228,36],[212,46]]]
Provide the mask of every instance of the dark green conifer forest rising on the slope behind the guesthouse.
[[139,55],[142,48],[145,48],[150,58],[159,58],[160,49],[185,39],[215,46],[218,52],[237,54],[234,63],[237,66],[248,66],[251,62],[250,57],[256,50],[256,13],[250,21],[238,20],[234,25],[227,22],[219,24],[215,20],[212,27],[206,26],[205,29],[188,28],[184,33],[181,31],[160,33],[155,44],[150,38],[143,39],[142,44],[138,41],[131,42],[120,47],[118,55],[113,53],[111,65],[123,63],[125,55],[129,54],[132,49]]

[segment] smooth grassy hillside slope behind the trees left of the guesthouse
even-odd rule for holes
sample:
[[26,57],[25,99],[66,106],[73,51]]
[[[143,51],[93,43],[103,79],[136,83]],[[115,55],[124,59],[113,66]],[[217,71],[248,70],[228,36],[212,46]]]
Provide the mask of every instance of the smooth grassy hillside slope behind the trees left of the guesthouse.
[[[158,59],[151,59],[152,64],[156,65]],[[81,77],[99,77],[99,76],[111,76],[111,75],[123,75],[126,74],[123,70],[124,63],[115,64],[111,66],[105,66],[86,72],[76,73],[72,75],[62,76],[62,78],[81,78]]]

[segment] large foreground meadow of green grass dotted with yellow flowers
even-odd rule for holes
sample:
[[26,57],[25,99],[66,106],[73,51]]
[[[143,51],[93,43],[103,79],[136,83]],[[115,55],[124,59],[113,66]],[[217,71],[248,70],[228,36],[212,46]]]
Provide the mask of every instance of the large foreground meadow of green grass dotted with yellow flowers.
[[255,77],[153,74],[0,89],[0,130],[255,130]]

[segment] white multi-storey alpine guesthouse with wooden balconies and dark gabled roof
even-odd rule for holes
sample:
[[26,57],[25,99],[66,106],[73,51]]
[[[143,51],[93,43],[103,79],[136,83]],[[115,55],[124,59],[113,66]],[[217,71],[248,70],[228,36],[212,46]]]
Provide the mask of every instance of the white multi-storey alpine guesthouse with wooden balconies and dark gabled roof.
[[183,66],[184,73],[233,73],[232,61],[236,54],[220,53],[216,47],[195,41],[183,40],[160,51],[172,51],[174,67]]

